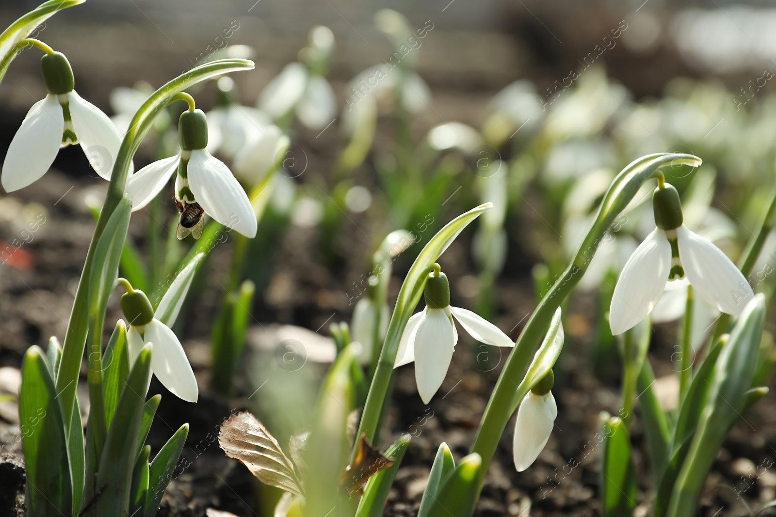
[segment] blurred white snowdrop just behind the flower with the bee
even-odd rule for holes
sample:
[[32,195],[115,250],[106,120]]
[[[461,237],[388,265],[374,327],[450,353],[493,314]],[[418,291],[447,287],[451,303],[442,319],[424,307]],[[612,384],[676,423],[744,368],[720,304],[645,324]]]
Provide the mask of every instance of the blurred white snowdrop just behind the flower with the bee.
[[220,78],[217,85],[218,105],[206,114],[206,149],[209,153],[218,151],[227,158],[234,158],[246,143],[262,136],[272,121],[258,109],[239,105],[232,78]]

